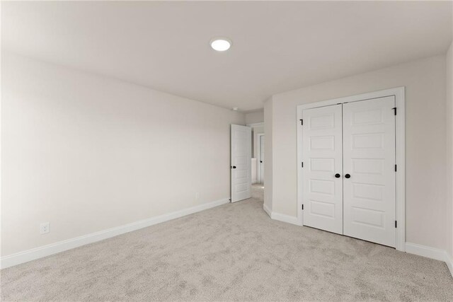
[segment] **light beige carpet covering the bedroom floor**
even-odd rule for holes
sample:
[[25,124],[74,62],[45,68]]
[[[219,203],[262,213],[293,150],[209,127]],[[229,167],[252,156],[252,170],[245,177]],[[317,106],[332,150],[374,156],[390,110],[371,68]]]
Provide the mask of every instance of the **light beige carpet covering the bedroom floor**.
[[453,301],[445,263],[271,220],[254,197],[1,270],[2,301]]

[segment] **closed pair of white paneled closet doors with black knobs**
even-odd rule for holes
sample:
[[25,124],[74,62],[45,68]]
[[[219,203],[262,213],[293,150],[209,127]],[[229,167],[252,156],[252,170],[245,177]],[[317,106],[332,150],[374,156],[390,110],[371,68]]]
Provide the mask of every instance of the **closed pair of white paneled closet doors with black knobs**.
[[395,246],[394,107],[389,96],[304,110],[304,225]]

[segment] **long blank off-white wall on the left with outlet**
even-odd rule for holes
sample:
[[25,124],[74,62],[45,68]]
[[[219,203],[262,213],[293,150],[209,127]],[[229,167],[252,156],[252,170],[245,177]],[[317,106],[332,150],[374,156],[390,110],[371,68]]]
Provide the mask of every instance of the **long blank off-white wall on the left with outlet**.
[[243,113],[2,59],[2,256],[229,197]]

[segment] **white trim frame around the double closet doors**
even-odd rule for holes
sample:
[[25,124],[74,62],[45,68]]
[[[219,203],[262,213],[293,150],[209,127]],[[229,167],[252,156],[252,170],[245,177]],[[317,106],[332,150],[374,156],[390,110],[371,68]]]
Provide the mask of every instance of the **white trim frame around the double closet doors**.
[[396,87],[385,89],[382,91],[374,91],[370,93],[362,93],[359,95],[351,95],[343,98],[335,98],[331,100],[321,100],[319,102],[307,103],[297,106],[297,222],[301,226],[304,225],[304,216],[302,213],[303,203],[303,187],[302,187],[302,112],[309,108],[319,108],[329,105],[357,102],[360,100],[372,100],[374,98],[383,98],[386,96],[394,96],[396,103],[396,119],[395,119],[395,137],[396,137],[396,209],[395,217],[398,221],[396,228],[396,250],[406,251],[406,129],[405,129],[405,88]]

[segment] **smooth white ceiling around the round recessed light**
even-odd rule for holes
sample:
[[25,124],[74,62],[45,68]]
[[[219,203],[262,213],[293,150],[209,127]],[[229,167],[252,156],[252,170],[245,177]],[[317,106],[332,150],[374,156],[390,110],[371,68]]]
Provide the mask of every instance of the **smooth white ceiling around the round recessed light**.
[[[451,1],[1,4],[2,47],[239,110],[270,95],[445,53]],[[214,52],[212,37],[233,41]]]

